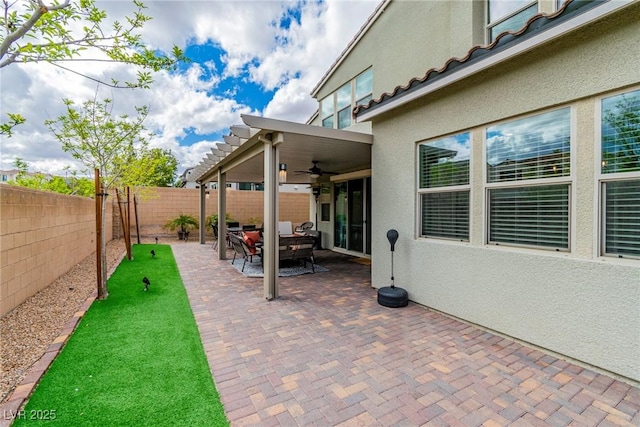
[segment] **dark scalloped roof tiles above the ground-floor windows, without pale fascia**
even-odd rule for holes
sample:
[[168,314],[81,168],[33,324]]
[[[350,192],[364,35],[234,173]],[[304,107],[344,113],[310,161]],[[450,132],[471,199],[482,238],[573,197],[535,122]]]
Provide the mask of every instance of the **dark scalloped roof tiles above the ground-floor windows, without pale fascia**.
[[505,31],[498,35],[491,44],[486,46],[475,46],[471,48],[463,58],[451,58],[442,68],[431,68],[423,77],[413,78],[405,86],[396,86],[391,93],[385,92],[378,99],[372,99],[365,105],[356,106],[353,110],[353,115],[357,116],[365,111],[375,110],[377,107],[386,104],[393,99],[401,98],[418,88],[437,81],[454,70],[467,67],[480,59],[495,55],[507,47],[520,43],[535,34],[538,34],[548,28],[552,28],[561,22],[573,18],[574,16],[607,1],[610,0],[568,0],[553,14],[538,13],[532,16],[520,30]]

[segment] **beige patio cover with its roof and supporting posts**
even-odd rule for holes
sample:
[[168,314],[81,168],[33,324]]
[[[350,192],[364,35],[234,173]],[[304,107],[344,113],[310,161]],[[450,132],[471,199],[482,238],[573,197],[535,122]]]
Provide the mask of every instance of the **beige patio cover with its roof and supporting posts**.
[[[196,166],[191,179],[200,184],[200,223],[205,220],[205,185],[218,182],[264,183],[264,295],[278,297],[278,166],[287,165],[287,184],[312,184],[307,171],[312,161],[325,171],[347,174],[371,169],[371,134],[242,115],[242,125],[232,126],[224,144],[217,144]],[[320,177],[325,178],[327,175]],[[218,191],[218,215],[226,213],[226,192]],[[219,235],[226,235],[224,221]],[[200,228],[200,243],[205,242]],[[226,246],[218,245],[219,259],[226,258]]]

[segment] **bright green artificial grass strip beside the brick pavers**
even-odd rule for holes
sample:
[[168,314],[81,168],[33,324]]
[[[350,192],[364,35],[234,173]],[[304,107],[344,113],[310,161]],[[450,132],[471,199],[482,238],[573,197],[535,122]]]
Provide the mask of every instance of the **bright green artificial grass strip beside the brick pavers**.
[[171,247],[135,245],[108,284],[14,425],[228,426]]

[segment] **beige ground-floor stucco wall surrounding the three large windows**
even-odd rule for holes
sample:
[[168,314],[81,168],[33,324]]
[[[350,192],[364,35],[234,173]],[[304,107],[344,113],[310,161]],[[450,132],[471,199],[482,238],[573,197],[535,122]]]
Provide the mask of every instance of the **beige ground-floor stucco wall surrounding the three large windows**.
[[[405,16],[391,18],[388,26],[406,28]],[[374,118],[373,228],[380,231],[373,233],[372,284],[389,284],[382,230],[395,228],[395,283],[411,300],[639,381],[640,261],[597,255],[595,176],[601,97],[640,88],[638,22],[636,3]],[[376,41],[375,51],[400,59],[389,53],[397,42],[377,34],[383,27],[372,30],[367,38]],[[399,76],[394,85],[407,81]],[[486,245],[485,127],[560,106],[572,109],[571,250]],[[418,238],[416,144],[461,131],[472,138],[470,241]]]

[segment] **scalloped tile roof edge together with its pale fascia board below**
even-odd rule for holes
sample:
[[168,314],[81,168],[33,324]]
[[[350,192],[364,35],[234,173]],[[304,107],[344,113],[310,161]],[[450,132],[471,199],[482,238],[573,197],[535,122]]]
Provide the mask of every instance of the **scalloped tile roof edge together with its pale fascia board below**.
[[[527,23],[518,31],[504,32],[496,37],[496,39],[487,46],[475,46],[467,55],[463,58],[451,58],[445,65],[440,68],[431,68],[421,78],[413,78],[406,86],[397,86],[393,92],[384,93],[378,99],[372,99],[366,105],[358,105],[354,108],[353,114],[356,118],[361,120],[367,120],[383,111],[388,111],[391,108],[402,105],[405,102],[409,102],[420,96],[424,96],[426,93],[437,90],[447,84],[451,84],[455,81],[461,80],[473,73],[486,69],[497,62],[509,59],[515,55],[518,55],[526,50],[536,46],[536,43],[544,43],[547,39],[540,41],[533,40],[536,36],[547,32],[547,30],[560,27],[561,24],[566,23],[570,19],[573,19],[579,15],[587,15],[588,12],[596,9],[598,6],[611,3],[605,11],[599,13],[593,13],[585,20],[586,23],[590,20],[599,19],[603,14],[610,13],[613,10],[617,10],[623,7],[630,1],[610,1],[610,0],[569,0],[562,8],[553,14],[547,15],[539,13],[532,16]],[[590,19],[590,20],[589,20]],[[565,32],[572,31],[577,28],[568,26]],[[582,24],[584,25],[584,23]],[[558,31],[549,36],[549,38],[558,37],[563,32]],[[524,45],[526,41],[530,41],[531,46],[522,49],[511,49],[518,45]],[[513,53],[509,53],[509,50],[513,50]],[[478,65],[478,67],[475,67]],[[453,77],[457,75],[457,78],[446,79],[447,77]],[[428,86],[432,86],[432,90],[425,90]],[[385,108],[386,107],[386,108]]]

